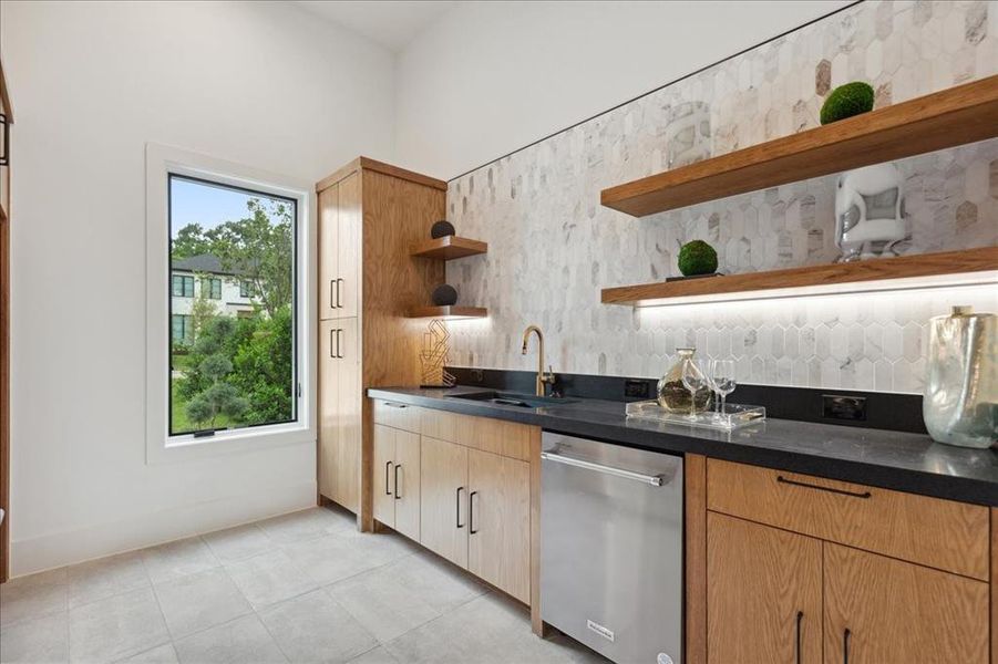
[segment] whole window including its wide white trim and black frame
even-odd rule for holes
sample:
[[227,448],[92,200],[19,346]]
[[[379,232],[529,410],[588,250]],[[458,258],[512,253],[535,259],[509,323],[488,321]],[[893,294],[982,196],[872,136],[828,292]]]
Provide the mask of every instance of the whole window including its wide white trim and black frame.
[[147,146],[150,463],[315,442],[310,189]]

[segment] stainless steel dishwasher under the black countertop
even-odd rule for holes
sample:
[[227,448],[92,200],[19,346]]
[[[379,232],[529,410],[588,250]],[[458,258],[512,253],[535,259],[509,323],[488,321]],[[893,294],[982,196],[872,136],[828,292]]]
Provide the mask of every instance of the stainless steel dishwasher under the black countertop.
[[680,664],[682,457],[545,432],[541,616],[618,664]]

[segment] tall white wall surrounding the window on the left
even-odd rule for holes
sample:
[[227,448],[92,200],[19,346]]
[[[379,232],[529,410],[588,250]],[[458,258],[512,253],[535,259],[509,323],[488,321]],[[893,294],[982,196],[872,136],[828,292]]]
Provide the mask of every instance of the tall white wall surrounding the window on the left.
[[145,463],[152,141],[318,180],[391,157],[392,56],[291,7],[8,2],[13,573],[315,504],[311,445]]

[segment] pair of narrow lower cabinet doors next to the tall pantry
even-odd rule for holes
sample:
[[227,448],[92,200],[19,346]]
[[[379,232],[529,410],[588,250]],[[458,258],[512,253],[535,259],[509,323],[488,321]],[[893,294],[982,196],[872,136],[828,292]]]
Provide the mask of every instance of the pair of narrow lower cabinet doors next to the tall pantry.
[[420,539],[420,437],[374,425],[374,518]]

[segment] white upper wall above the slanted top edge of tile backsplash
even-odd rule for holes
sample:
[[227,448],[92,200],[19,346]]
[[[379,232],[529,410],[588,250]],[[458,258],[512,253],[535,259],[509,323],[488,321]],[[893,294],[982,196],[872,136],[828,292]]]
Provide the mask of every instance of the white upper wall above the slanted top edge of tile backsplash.
[[441,177],[850,2],[462,2],[401,53],[395,160]]

